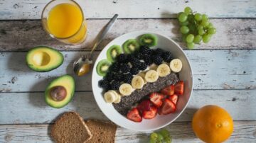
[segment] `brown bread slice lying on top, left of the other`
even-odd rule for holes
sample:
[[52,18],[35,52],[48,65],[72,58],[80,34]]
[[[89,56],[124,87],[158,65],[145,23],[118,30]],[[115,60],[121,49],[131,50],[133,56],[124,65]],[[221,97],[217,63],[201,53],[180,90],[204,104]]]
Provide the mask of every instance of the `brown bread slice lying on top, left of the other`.
[[58,143],[84,143],[92,138],[84,120],[75,112],[64,113],[51,129],[50,135]]

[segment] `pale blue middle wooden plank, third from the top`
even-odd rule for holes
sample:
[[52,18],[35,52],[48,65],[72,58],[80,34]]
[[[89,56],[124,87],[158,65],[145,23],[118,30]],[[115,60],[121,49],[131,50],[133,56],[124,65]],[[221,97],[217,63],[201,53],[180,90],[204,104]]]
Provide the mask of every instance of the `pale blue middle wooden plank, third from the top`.
[[[194,89],[256,88],[256,50],[186,50],[191,61]],[[65,60],[58,69],[36,72],[28,69],[26,52],[2,52],[0,55],[0,91],[44,91],[56,76],[72,74],[76,91],[92,91],[91,73],[73,74],[73,61],[82,52],[63,52]],[[95,52],[95,57],[99,52]],[[225,63],[225,64],[223,64]],[[26,81],[26,84],[24,84]]]

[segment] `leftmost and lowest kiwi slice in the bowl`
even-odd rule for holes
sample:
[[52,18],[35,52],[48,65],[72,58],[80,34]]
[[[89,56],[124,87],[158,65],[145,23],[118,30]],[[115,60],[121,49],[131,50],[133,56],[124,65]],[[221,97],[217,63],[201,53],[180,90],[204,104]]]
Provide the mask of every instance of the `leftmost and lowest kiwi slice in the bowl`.
[[107,71],[110,69],[111,62],[108,61],[107,59],[102,59],[98,64],[97,64],[97,74],[99,76],[106,76]]

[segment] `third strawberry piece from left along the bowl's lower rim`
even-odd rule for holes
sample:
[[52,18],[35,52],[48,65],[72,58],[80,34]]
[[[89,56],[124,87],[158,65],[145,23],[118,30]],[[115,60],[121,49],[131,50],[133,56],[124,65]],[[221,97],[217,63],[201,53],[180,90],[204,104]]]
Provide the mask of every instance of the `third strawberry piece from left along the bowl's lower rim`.
[[176,110],[176,106],[175,104],[170,101],[168,98],[164,99],[164,103],[161,106],[161,108],[159,108],[159,114],[160,115],[166,115],[169,113],[174,113]]

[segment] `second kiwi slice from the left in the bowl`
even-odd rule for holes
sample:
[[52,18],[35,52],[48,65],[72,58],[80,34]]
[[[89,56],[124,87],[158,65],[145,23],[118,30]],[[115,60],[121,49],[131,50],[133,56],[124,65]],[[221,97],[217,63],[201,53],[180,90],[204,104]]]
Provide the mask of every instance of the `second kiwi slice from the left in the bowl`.
[[107,59],[110,62],[115,62],[117,60],[117,56],[122,54],[122,49],[119,45],[112,45],[108,50],[107,50]]

